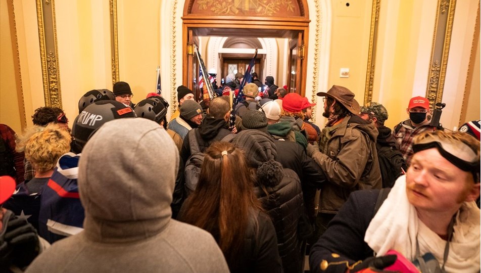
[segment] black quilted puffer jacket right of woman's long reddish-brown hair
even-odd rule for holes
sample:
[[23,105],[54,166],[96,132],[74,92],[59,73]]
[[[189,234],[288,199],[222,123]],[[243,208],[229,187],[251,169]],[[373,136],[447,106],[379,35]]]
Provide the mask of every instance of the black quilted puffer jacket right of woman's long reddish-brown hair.
[[305,213],[301,183],[293,170],[282,170],[278,162],[275,164],[275,169],[270,170],[273,175],[267,179],[259,176],[265,165],[259,167],[255,193],[274,223],[284,272],[300,272],[304,255],[298,226]]

